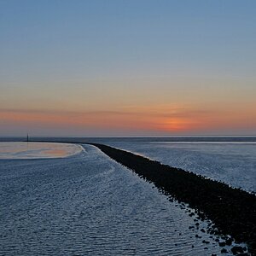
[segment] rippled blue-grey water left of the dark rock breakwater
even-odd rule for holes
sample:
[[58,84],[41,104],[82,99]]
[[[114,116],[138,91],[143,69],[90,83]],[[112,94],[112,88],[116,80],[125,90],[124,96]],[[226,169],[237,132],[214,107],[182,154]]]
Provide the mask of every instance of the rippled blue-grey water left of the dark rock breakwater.
[[216,237],[200,231],[207,222],[189,229],[195,221],[186,207],[97,148],[84,149],[62,159],[0,160],[0,255],[220,253]]

